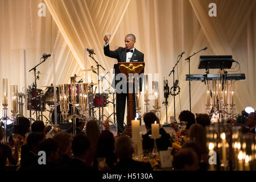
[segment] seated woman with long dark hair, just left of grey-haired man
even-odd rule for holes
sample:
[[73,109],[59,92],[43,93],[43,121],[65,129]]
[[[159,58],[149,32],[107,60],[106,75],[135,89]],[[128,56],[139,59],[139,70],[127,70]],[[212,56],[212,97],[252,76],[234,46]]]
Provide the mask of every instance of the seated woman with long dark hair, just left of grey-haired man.
[[[96,148],[96,156],[93,160],[93,167],[99,170],[109,170],[117,163],[117,156],[114,153],[114,135],[109,130],[101,132]],[[97,158],[105,158],[105,166],[98,165]]]

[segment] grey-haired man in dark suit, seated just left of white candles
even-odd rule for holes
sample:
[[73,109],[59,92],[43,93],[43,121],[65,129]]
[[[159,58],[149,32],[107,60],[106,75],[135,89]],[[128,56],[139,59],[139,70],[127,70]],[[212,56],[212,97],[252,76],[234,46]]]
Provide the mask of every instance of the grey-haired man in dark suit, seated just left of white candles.
[[113,171],[152,171],[150,163],[133,160],[133,152],[130,137],[118,137],[115,140],[115,155],[117,155],[119,162],[112,168]]

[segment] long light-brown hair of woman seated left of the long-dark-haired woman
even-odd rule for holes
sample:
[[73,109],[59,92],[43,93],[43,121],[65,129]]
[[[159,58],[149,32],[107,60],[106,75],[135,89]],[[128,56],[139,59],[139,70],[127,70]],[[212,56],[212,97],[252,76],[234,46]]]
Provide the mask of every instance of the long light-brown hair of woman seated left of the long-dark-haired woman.
[[98,138],[100,138],[101,131],[97,121],[90,120],[85,126],[85,136],[90,140],[89,151],[96,151]]

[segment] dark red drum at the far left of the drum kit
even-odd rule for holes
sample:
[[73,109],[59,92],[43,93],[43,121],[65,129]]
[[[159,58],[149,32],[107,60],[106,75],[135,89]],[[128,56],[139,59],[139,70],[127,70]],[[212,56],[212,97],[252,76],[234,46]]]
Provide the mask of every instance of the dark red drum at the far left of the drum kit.
[[[37,90],[37,97],[36,97],[36,90]],[[27,98],[27,109],[30,109],[30,104],[31,104],[31,110],[38,110],[41,111],[41,105],[42,105],[42,110],[46,110],[46,103],[41,102],[42,101],[42,95],[43,95],[43,90],[41,89],[34,89],[32,88],[31,90],[27,90],[28,98]],[[35,101],[36,99],[36,101]],[[37,107],[36,107],[37,106]]]

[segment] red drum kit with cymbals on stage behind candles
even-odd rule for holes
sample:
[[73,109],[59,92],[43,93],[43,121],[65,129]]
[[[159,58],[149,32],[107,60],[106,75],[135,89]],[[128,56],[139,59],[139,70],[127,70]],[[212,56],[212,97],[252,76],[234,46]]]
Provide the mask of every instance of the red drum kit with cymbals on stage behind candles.
[[[92,71],[93,68],[88,69],[87,71]],[[40,73],[42,74],[42,73]],[[80,76],[73,76],[71,79],[74,79],[75,77],[75,98],[76,98],[76,113],[79,113],[80,106],[78,105],[80,103],[80,85],[82,84],[82,79],[80,81],[76,81],[77,77]],[[39,75],[37,76],[39,78]],[[28,119],[31,120],[31,122],[34,122],[36,120],[42,120],[43,118],[46,119],[46,125],[53,125],[55,124],[55,98],[54,98],[54,86],[53,84],[51,85],[44,85],[40,86],[41,88],[45,89],[36,89],[35,88],[35,82],[33,82],[31,85],[28,86],[28,89],[26,89],[27,92],[27,110],[30,113],[30,117]],[[90,119],[96,119],[99,121],[103,121],[106,117],[106,119],[109,120],[109,118],[114,115],[114,121],[110,121],[115,125],[115,97],[114,94],[115,92],[109,92],[109,88],[105,90],[104,93],[96,93],[98,84],[94,82],[89,82],[88,83],[88,90],[87,92],[87,98],[88,98],[88,108],[87,108],[87,116],[86,118]],[[58,86],[56,88],[56,111],[57,111],[57,125],[59,125],[61,130],[69,130],[72,127],[72,123],[69,122],[62,122],[61,119],[61,110],[60,110],[60,88]],[[113,94],[113,100],[109,101],[109,94]],[[19,93],[19,114],[18,117],[23,116],[23,98],[25,97],[24,93]],[[71,102],[71,97],[72,97],[72,84],[68,84],[68,101],[69,101],[69,108],[73,107],[73,104]],[[104,115],[104,107],[108,107],[109,104],[113,104],[114,107],[114,112],[110,114],[108,117]],[[49,109],[47,109],[48,107]],[[101,108],[101,113],[100,116],[97,116],[96,111],[97,109]],[[45,112],[48,111],[49,115],[48,117],[45,115]],[[40,114],[37,114],[37,118],[34,119],[32,115],[34,115],[35,112],[38,112]],[[72,109],[69,109],[69,115],[72,115]],[[97,119],[100,117],[100,119]],[[99,121],[99,125],[101,126],[101,123]]]

